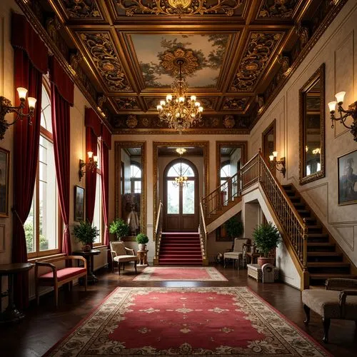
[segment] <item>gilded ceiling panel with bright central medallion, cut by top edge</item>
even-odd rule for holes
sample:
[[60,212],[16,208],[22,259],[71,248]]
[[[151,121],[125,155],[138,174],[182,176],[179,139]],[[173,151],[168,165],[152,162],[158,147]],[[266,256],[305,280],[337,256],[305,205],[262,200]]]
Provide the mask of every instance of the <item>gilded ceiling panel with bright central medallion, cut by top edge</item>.
[[242,0],[116,0],[126,16],[154,14],[164,16],[200,16],[203,14],[233,16]]

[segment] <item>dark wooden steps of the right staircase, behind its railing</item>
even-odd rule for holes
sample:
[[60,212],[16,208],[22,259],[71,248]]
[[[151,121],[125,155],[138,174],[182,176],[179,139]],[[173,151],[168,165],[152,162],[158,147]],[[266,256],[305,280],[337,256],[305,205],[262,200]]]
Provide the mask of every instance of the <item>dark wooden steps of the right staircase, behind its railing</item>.
[[307,268],[310,286],[321,286],[327,278],[356,278],[351,274],[351,263],[347,256],[336,246],[333,237],[296,188],[288,184],[283,185],[283,189],[308,229]]

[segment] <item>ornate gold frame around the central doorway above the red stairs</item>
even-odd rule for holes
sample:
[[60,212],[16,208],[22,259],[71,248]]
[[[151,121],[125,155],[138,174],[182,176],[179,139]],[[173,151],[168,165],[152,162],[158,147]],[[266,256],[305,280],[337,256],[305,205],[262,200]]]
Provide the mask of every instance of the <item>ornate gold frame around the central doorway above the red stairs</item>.
[[[204,165],[204,181],[203,181],[203,192],[206,195],[209,192],[209,181],[208,181],[208,172],[209,172],[209,141],[154,141],[153,142],[153,159],[154,159],[154,184],[153,184],[153,198],[154,198],[154,220],[156,222],[157,210],[159,207],[158,201],[158,158],[159,158],[159,147],[160,146],[198,146],[203,148],[203,165]],[[155,240],[155,234],[154,240]]]

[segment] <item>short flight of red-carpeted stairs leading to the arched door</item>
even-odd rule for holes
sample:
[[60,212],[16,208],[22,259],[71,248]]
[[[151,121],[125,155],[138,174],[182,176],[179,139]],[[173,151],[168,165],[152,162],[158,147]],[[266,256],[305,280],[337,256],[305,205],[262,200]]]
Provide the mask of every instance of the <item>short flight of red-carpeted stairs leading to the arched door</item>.
[[201,266],[202,253],[198,233],[162,233],[159,264]]

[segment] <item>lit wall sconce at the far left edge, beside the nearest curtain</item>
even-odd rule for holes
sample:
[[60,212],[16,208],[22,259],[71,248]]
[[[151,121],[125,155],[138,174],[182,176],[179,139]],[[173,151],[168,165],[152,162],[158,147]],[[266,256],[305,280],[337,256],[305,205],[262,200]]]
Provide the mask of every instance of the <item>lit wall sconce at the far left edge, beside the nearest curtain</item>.
[[[4,139],[6,129],[8,129],[10,125],[15,124],[19,119],[22,120],[23,118],[29,118],[29,124],[32,124],[31,118],[34,116],[36,99],[29,96],[27,99],[29,103],[29,113],[24,114],[27,89],[19,87],[17,92],[19,93],[20,98],[19,106],[11,106],[11,101],[9,101],[9,99],[6,99],[4,96],[0,96],[0,140]],[[5,119],[5,116],[8,113],[17,114],[16,119],[12,123],[8,123]]]

